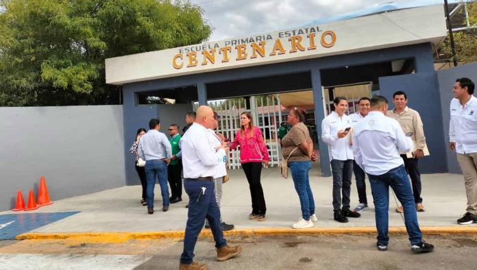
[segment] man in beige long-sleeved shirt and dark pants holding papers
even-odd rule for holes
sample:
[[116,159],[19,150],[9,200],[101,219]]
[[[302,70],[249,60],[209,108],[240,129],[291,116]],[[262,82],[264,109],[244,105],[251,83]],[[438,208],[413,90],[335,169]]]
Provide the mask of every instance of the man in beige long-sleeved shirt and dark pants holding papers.
[[[404,160],[404,166],[411,177],[413,185],[414,202],[417,212],[424,212],[421,198],[421,173],[419,172],[419,158],[428,156],[426,136],[419,112],[408,108],[406,93],[397,91],[393,95],[394,109],[387,112],[387,116],[397,120],[406,136],[411,137],[415,148],[407,153],[400,153]],[[403,212],[402,206],[396,208],[396,212]]]

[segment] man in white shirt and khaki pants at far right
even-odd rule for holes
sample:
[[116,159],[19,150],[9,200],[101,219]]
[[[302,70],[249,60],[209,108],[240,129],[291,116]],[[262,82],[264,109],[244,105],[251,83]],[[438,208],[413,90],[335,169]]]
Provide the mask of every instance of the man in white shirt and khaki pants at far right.
[[457,152],[458,164],[464,174],[467,212],[459,224],[477,223],[477,98],[475,84],[463,77],[456,80],[450,101],[450,149]]

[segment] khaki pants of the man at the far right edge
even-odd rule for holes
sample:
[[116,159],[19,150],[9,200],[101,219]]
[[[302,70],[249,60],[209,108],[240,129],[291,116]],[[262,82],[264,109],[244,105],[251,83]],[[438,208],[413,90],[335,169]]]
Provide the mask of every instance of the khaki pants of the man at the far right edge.
[[464,173],[467,212],[477,214],[477,153],[457,154],[457,161]]

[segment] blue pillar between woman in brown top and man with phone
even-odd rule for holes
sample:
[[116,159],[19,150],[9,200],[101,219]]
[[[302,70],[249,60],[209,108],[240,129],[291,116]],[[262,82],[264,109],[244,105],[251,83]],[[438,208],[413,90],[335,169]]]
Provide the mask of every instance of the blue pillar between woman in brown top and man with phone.
[[311,84],[313,87],[313,102],[315,103],[315,124],[317,125],[319,158],[321,163],[321,175],[331,176],[330,158],[328,145],[321,140],[321,121],[325,118],[323,109],[323,93],[321,92],[321,74],[317,67],[311,69]]

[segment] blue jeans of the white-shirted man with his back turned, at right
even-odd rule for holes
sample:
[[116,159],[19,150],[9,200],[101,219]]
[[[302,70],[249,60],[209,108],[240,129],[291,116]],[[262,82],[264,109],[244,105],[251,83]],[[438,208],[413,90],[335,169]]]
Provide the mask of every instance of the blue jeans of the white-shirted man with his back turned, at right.
[[404,208],[404,220],[411,245],[421,243],[422,234],[417,223],[417,213],[414,204],[413,190],[409,184],[404,165],[391,169],[383,175],[369,175],[369,184],[374,197],[376,208],[376,229],[378,230],[378,243],[388,245],[389,227],[389,186]]

